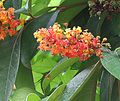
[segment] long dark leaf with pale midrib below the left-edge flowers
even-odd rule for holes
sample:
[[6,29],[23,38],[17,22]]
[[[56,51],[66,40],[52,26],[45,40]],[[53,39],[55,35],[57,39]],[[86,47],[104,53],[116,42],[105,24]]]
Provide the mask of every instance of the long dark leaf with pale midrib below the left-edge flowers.
[[0,101],[8,101],[15,82],[20,60],[21,31],[17,37],[0,41]]

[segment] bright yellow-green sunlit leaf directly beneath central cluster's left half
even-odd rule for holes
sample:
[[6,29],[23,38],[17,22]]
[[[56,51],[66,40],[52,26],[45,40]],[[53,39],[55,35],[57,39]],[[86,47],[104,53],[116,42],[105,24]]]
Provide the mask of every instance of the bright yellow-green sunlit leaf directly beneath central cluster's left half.
[[57,64],[60,58],[60,56],[54,56],[50,52],[39,51],[32,59],[32,71],[37,73],[49,72]]

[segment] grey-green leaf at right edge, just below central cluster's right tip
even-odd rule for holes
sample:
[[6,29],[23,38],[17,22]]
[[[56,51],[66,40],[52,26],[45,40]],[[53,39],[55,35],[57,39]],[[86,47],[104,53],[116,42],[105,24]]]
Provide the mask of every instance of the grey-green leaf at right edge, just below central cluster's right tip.
[[115,52],[104,52],[101,62],[109,73],[120,80],[120,58]]

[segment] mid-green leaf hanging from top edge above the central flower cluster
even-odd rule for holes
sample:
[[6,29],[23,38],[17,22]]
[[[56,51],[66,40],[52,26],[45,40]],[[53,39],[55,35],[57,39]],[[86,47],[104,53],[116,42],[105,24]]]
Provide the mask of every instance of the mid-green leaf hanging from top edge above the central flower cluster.
[[63,12],[59,14],[57,18],[57,22],[65,23],[65,22],[69,22],[70,20],[72,20],[78,13],[80,13],[84,8],[87,7],[87,1],[88,0],[66,0],[64,1],[60,5],[60,7],[63,7]]

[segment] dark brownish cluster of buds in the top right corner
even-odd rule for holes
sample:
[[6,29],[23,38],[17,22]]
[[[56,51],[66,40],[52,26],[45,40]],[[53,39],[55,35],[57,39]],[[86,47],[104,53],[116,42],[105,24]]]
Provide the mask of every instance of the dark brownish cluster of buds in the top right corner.
[[120,13],[120,0],[90,0],[89,6],[91,15],[100,15],[104,11]]

